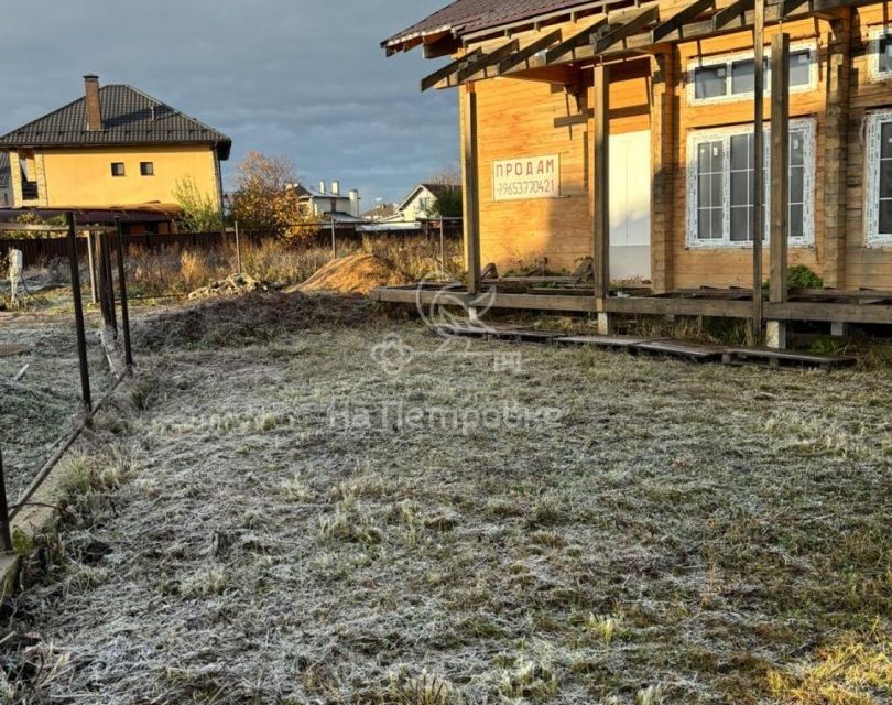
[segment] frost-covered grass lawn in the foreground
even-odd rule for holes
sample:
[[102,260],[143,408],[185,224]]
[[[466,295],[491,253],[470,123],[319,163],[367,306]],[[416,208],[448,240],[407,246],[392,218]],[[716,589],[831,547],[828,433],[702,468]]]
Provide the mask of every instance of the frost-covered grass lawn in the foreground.
[[[9,687],[40,648],[47,702],[889,701],[888,377],[536,347],[496,372],[518,348],[295,306],[145,328],[155,381],[37,546]],[[407,430],[398,402],[562,415]]]

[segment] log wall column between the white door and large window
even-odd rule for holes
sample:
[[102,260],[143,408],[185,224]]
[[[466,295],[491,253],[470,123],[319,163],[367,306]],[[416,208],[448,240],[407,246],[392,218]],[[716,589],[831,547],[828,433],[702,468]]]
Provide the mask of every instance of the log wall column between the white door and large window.
[[651,57],[651,282],[674,289],[675,51]]

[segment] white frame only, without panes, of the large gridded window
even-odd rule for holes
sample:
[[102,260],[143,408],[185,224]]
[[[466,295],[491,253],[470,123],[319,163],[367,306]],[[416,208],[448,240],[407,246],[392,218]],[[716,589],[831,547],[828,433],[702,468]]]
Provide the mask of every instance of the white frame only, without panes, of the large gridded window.
[[[892,117],[892,112],[889,113]],[[751,134],[751,122],[735,124],[725,128],[692,130],[687,138],[687,247],[690,249],[726,249],[751,248],[752,240],[731,240],[731,138],[740,134]],[[790,121],[790,132],[804,131],[803,142],[803,235],[802,237],[787,237],[790,247],[813,248],[815,246],[815,172],[816,164],[816,132],[817,120],[814,117],[796,118]],[[700,239],[698,232],[698,166],[697,147],[701,142],[724,142],[725,156],[722,162],[722,232],[721,238]],[[769,215],[771,213],[771,181],[769,149],[771,144],[771,130],[765,123],[765,235],[763,247],[770,241]]]

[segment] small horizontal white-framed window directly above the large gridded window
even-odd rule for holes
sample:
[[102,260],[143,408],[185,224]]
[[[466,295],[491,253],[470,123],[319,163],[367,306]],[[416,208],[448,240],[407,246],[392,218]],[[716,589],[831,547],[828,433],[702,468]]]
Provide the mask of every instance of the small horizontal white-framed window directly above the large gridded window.
[[[765,51],[764,87],[770,94],[770,52]],[[817,88],[817,51],[814,44],[798,44],[790,51],[790,90]],[[687,66],[688,101],[696,104],[741,100],[753,95],[755,59],[752,52],[699,58]]]

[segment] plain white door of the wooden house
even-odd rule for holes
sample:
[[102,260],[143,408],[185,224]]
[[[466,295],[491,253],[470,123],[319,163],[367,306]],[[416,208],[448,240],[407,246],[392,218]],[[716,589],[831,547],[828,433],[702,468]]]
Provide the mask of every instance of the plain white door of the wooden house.
[[651,278],[651,132],[610,135],[610,279]]

